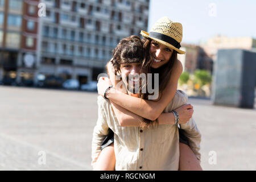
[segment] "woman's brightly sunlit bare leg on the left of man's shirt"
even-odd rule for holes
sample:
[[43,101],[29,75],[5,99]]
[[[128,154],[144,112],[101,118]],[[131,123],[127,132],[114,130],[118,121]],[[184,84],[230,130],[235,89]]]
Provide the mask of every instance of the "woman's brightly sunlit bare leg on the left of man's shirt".
[[102,149],[93,170],[94,171],[114,171],[115,170],[114,143]]

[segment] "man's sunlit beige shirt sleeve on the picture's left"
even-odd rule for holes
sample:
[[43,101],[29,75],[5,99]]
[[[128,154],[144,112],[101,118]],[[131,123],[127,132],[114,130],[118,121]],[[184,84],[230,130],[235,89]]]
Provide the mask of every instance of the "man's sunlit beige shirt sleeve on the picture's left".
[[107,113],[106,113],[106,101],[101,96],[98,96],[98,119],[96,126],[93,129],[93,137],[92,137],[92,167],[94,168],[94,164],[96,163],[98,156],[101,152],[101,144],[103,140],[106,138],[106,135],[109,133],[108,122],[106,121]]

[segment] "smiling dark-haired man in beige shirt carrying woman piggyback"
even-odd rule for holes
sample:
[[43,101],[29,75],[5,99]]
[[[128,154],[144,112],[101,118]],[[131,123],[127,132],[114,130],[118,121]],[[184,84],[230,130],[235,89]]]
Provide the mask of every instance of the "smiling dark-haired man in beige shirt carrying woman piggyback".
[[[117,61],[115,69],[120,73],[123,88],[127,94],[138,97],[134,90],[138,79],[130,80],[129,75],[138,75],[141,71],[143,56],[141,55],[140,39],[133,39],[133,44],[127,42],[121,45],[127,49],[122,59]],[[137,45],[138,44],[138,45]],[[120,45],[118,45],[120,46]],[[131,53],[131,50],[134,52]],[[130,85],[132,84],[132,85]],[[129,89],[132,88],[132,89]],[[187,104],[187,96],[177,91],[174,99],[168,104],[164,112],[170,113],[182,105]],[[193,121],[188,128],[195,125]],[[179,168],[179,132],[176,125],[156,125],[155,127],[121,127],[117,121],[110,101],[98,96],[98,121],[93,131],[92,165],[96,162],[101,151],[101,143],[109,133],[114,132],[114,152],[116,170],[177,170]]]

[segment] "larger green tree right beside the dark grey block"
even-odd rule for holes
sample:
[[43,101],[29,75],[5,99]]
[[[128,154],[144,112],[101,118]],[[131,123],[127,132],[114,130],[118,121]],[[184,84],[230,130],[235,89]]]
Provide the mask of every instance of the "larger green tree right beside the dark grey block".
[[212,82],[212,76],[210,75],[210,72],[203,69],[195,71],[194,76],[194,82],[200,86],[210,84]]

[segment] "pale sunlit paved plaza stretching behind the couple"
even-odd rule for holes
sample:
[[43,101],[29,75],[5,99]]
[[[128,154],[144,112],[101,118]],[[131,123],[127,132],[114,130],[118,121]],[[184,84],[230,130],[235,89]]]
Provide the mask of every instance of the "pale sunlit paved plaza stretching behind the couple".
[[[189,102],[203,169],[256,170],[256,109]],[[0,170],[92,170],[96,120],[97,93],[0,85]]]

